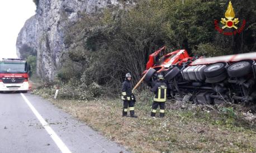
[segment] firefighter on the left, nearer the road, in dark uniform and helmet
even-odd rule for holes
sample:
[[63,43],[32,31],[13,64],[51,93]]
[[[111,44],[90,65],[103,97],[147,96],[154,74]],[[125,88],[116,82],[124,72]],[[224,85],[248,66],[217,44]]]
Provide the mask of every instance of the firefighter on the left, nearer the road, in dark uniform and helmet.
[[[135,96],[131,89],[131,74],[125,75],[125,81],[122,83],[122,100],[124,100],[124,107],[122,109],[122,116],[127,116],[127,111],[130,111],[130,116],[137,118],[134,114]],[[129,106],[129,107],[128,107]]]

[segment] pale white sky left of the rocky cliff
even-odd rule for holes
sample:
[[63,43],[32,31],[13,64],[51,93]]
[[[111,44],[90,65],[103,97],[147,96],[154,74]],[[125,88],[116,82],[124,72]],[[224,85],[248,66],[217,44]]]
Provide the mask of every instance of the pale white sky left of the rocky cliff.
[[0,59],[17,58],[16,39],[26,20],[34,16],[32,0],[6,0],[0,2]]

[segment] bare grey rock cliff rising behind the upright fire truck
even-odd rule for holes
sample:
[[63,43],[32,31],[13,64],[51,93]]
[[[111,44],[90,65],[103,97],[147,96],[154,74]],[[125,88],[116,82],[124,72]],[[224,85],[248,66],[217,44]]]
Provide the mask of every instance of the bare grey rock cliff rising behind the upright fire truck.
[[40,0],[35,16],[26,21],[18,34],[17,55],[22,54],[23,46],[29,46],[37,52],[37,75],[44,80],[53,80],[61,66],[61,56],[68,50],[64,42],[64,28],[78,21],[80,13],[93,16],[105,7],[122,8],[127,3],[132,1]]

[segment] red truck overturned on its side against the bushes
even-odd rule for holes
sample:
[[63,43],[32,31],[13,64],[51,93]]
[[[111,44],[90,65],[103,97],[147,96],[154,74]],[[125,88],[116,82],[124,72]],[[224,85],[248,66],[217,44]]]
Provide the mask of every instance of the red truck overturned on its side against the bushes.
[[[197,104],[250,103],[256,100],[256,52],[219,57],[189,57],[186,50],[149,56],[144,81],[152,87],[161,73],[169,98],[184,95]],[[163,55],[163,56],[162,56]]]

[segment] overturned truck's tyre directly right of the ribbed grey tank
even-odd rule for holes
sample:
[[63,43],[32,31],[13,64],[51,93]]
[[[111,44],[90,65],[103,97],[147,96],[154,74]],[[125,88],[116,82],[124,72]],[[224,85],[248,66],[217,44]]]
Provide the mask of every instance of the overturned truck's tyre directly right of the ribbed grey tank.
[[226,71],[224,63],[215,63],[214,65],[207,66],[203,72],[206,77],[216,77]]

